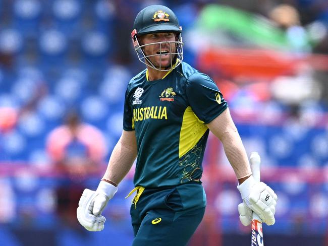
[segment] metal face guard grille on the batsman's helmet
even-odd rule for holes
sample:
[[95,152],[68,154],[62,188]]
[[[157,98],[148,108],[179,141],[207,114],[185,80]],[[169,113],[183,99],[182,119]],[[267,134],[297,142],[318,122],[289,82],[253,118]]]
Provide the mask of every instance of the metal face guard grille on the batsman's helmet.
[[[165,32],[165,31],[163,31]],[[148,43],[148,44],[143,44],[140,45],[138,37],[137,37],[137,30],[134,29],[131,33],[132,37],[132,42],[134,46],[134,50],[137,52],[139,60],[145,64],[146,66],[153,68],[158,71],[170,71],[173,68],[178,67],[181,64],[181,61],[183,60],[183,42],[182,42],[182,37],[181,33],[178,34],[177,41],[163,41],[163,42],[155,42],[155,43]],[[172,49],[171,44],[174,43],[176,45],[175,50]],[[170,50],[169,50],[169,55],[170,55],[170,65],[168,67],[161,67],[161,57],[162,54],[151,54],[151,55],[146,55],[143,51],[143,48],[148,46],[148,45],[154,45],[154,44],[159,44],[159,50],[161,50],[161,45],[162,44],[169,44]],[[152,56],[159,56],[159,67],[156,67],[151,61],[150,57]]]

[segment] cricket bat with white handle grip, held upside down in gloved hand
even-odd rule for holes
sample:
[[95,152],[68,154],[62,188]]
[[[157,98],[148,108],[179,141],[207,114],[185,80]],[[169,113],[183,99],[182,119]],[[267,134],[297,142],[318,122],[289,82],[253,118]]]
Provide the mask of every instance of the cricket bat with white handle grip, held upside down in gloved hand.
[[[261,157],[257,152],[252,152],[250,156],[251,170],[253,177],[256,181],[260,181],[260,163]],[[252,214],[252,235],[251,235],[251,246],[263,246],[263,230],[262,230],[262,220],[257,214],[253,212]]]

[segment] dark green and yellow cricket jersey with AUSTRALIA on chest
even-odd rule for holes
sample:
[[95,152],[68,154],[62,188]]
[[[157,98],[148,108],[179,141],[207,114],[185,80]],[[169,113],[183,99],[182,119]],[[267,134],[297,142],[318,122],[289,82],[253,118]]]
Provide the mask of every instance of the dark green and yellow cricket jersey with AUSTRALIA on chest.
[[200,182],[208,128],[227,102],[207,75],[182,62],[161,80],[145,69],[129,82],[125,131],[135,130],[138,157],[134,185],[173,187]]

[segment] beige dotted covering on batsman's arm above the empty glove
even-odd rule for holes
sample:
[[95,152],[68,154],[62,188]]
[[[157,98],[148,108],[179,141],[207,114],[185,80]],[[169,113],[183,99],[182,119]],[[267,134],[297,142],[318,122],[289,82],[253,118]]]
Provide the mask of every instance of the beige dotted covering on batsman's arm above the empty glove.
[[135,131],[124,131],[114,147],[103,179],[119,184],[127,175],[137,157],[137,140]]

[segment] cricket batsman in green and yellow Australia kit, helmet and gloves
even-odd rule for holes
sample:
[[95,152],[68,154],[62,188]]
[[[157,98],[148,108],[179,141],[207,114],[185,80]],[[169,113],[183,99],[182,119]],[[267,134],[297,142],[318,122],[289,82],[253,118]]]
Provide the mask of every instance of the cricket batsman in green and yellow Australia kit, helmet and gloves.
[[123,132],[96,191],[85,189],[77,218],[89,231],[104,228],[101,212],[137,158],[131,205],[134,246],[186,245],[201,222],[206,195],[202,160],[211,131],[239,181],[240,220],[252,211],[275,223],[277,195],[255,181],[241,138],[220,90],[183,60],[182,28],[171,9],[151,5],[134,21],[132,42],[146,69],[126,90]]

